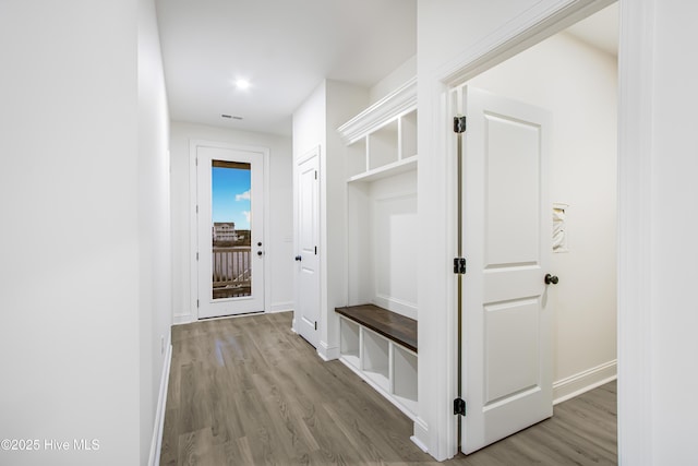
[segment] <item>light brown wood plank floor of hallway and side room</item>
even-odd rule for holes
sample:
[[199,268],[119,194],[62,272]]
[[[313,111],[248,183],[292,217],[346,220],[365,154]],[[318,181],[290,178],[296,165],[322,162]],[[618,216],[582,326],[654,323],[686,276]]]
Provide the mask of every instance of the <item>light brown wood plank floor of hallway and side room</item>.
[[161,465],[614,465],[615,382],[552,419],[437,463],[412,422],[290,331],[291,313],[172,328]]

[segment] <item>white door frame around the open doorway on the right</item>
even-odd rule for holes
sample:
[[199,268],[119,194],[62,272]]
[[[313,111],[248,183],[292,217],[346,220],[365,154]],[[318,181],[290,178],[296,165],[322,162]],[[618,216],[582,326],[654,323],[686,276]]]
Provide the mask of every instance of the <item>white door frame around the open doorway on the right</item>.
[[[445,198],[441,199],[447,213],[446,225],[450,229],[444,237],[446,246],[440,251],[444,259],[455,256],[453,231],[456,214],[453,199],[456,190],[455,182],[449,178],[456,169],[456,144],[447,124],[454,117],[449,93],[478,74],[614,2],[541,1],[444,67],[431,71],[429,75],[420,75],[420,99],[426,100],[426,108],[420,112],[420,123],[424,123],[422,128],[428,128],[423,133],[426,138],[420,141],[420,152],[429,147],[434,154],[445,154],[445,159],[434,168],[436,172],[423,175],[428,179],[430,175],[438,174],[448,180],[445,182]],[[651,414],[647,406],[651,406],[652,383],[650,369],[643,361],[649,357],[645,342],[651,340],[651,296],[647,286],[651,283],[651,268],[646,254],[650,249],[647,231],[651,230],[651,215],[643,211],[642,205],[647,205],[649,200],[643,187],[651,186],[652,145],[649,139],[652,120],[651,106],[646,104],[643,96],[651,94],[653,84],[653,0],[618,2],[623,24],[618,52],[618,456],[628,464],[648,464],[651,461],[648,458],[652,457],[651,442],[648,441],[650,433],[643,426],[651,426]],[[435,126],[433,121],[445,123]],[[424,171],[420,170],[422,174]],[[420,192],[422,188],[428,186],[420,187]],[[420,335],[444,343],[434,348],[433,357],[420,357],[420,362],[423,359],[440,362],[433,368],[420,363],[420,394],[425,396],[420,395],[419,414],[429,418],[431,426],[416,422],[414,432],[419,443],[425,445],[434,457],[446,459],[457,453],[457,418],[453,416],[452,406],[457,395],[454,280],[446,279],[444,287],[437,291],[446,292],[445,303],[449,312],[444,313],[437,322],[419,320]],[[423,303],[420,304],[422,307]],[[444,335],[447,335],[445,339]],[[430,380],[445,382],[432,389]],[[434,415],[429,416],[430,411]]]

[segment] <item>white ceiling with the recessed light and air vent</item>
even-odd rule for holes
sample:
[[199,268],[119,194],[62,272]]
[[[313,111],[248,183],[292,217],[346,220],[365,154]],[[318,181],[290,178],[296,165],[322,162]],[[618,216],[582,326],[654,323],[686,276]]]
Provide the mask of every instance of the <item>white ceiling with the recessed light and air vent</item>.
[[[324,79],[372,86],[417,52],[417,0],[156,4],[174,121],[290,135],[291,115]],[[568,32],[617,55],[617,7]]]

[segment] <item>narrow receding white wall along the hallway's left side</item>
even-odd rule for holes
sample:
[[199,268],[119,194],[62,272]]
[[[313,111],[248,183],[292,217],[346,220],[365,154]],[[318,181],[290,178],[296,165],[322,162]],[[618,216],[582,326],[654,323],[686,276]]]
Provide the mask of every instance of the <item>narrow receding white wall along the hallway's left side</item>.
[[[139,254],[141,464],[159,457],[172,325],[169,115],[155,2],[140,0]],[[158,401],[160,405],[158,406]],[[157,409],[160,409],[159,411]]]

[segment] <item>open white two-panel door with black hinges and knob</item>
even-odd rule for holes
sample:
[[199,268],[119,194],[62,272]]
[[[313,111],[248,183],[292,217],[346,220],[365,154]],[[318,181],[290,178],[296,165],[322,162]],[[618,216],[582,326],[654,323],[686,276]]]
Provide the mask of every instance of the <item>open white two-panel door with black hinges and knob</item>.
[[546,110],[464,91],[464,453],[553,414]]

